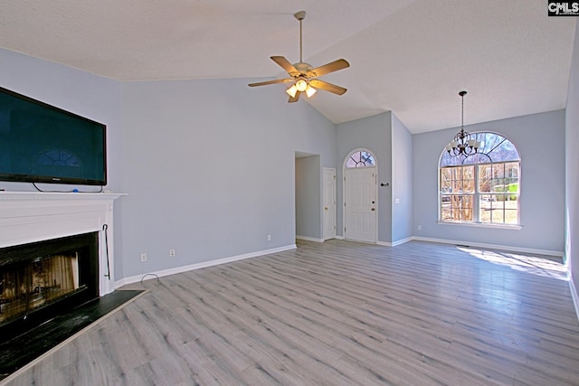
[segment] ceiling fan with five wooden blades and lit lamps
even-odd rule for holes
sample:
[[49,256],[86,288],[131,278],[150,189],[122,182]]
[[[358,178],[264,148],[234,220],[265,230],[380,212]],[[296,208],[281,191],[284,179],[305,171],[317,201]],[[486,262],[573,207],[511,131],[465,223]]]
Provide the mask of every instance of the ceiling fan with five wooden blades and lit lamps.
[[291,64],[283,56],[271,56],[271,60],[278,63],[278,65],[280,65],[280,67],[283,70],[288,71],[288,74],[291,78],[250,83],[249,86],[255,87],[275,83],[291,82],[291,86],[289,87],[289,89],[286,89],[286,92],[289,94],[288,101],[290,103],[297,102],[302,92],[305,92],[308,98],[311,97],[316,93],[316,89],[324,89],[337,95],[344,94],[346,92],[346,89],[344,89],[343,87],[337,86],[332,83],[328,83],[327,81],[324,80],[318,80],[318,77],[326,75],[330,72],[346,69],[350,67],[350,63],[348,63],[344,59],[338,59],[337,61],[332,61],[330,63],[324,64],[323,66],[313,68],[310,64],[302,61],[301,22],[306,17],[306,11],[299,11],[296,14],[294,14],[294,17],[299,20],[299,62]]

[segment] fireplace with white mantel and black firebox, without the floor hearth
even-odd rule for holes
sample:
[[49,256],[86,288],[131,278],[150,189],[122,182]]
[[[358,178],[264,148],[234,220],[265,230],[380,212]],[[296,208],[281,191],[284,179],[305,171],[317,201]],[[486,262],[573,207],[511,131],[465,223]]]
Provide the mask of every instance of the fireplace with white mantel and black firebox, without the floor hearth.
[[118,287],[113,202],[123,195],[0,192],[0,326]]

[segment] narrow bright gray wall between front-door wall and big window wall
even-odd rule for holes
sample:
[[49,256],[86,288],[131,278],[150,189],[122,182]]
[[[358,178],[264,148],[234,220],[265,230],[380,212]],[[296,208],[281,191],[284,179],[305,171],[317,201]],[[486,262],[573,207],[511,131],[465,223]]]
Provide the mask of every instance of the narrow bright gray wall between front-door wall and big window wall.
[[392,241],[396,243],[413,236],[413,136],[394,114],[391,186]]

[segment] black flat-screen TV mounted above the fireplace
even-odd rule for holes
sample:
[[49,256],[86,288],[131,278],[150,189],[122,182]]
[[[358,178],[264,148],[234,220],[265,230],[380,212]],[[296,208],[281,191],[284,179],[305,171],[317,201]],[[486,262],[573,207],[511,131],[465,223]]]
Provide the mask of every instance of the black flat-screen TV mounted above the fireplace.
[[0,181],[106,185],[106,130],[0,87]]

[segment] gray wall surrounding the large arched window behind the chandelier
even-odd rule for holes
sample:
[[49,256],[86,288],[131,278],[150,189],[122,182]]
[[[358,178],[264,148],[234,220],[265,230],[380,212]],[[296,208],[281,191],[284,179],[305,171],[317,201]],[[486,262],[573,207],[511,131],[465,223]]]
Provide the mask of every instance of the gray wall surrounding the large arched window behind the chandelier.
[[[458,127],[413,137],[414,235],[528,249],[563,252],[565,229],[565,111],[551,111],[465,127],[492,131],[510,139],[521,156],[522,230],[439,224],[438,165],[443,147]],[[416,227],[422,225],[422,231]]]

